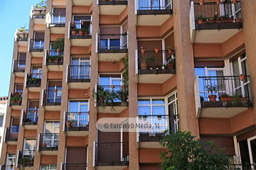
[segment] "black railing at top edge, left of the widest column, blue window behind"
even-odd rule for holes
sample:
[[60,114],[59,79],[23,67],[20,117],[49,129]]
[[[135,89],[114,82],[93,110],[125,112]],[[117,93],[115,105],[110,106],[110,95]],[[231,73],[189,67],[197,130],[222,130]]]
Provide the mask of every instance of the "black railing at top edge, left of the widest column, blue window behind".
[[156,0],[138,0],[138,10],[163,10],[172,8],[171,0],[164,1],[164,4],[161,4],[161,2]]

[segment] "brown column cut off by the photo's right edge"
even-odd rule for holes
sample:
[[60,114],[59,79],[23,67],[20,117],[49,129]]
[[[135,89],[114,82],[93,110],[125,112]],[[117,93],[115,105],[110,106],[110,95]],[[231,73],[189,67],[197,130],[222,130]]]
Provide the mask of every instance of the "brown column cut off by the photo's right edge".
[[[256,33],[255,33],[255,15],[256,13],[256,1],[253,0],[242,0],[241,9],[242,9],[242,24],[243,24],[243,34],[245,38],[245,50],[247,57],[247,65],[250,73],[250,88],[252,90],[252,102],[253,102],[253,113],[255,115],[255,124],[256,124],[256,60],[255,60],[255,43],[256,43]],[[243,10],[245,9],[245,10]]]

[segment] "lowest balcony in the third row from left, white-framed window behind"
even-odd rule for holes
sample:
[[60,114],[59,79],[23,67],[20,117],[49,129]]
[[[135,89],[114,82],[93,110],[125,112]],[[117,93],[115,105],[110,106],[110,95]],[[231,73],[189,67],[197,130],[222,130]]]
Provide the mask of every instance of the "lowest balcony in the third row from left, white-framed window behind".
[[38,152],[46,155],[58,155],[58,133],[40,133]]

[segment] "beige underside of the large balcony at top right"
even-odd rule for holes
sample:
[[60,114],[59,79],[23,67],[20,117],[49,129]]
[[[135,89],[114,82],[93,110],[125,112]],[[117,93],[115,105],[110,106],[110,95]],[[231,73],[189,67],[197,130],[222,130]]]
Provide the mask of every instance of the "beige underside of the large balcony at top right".
[[[196,24],[196,27],[201,25],[201,29],[196,29],[194,32],[194,43],[223,43],[229,38],[233,37],[241,29],[238,26],[242,23],[203,23]],[[225,26],[226,28],[218,28],[218,26]],[[233,26],[228,27],[228,26]]]

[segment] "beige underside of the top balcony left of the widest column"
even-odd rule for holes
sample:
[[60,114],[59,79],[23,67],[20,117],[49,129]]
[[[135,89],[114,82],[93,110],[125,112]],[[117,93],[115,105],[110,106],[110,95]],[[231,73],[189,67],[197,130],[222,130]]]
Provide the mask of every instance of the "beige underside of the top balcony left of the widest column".
[[138,10],[137,26],[161,26],[171,17],[172,11],[167,10]]

